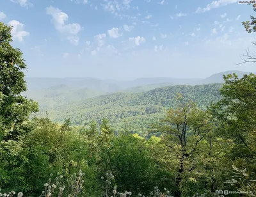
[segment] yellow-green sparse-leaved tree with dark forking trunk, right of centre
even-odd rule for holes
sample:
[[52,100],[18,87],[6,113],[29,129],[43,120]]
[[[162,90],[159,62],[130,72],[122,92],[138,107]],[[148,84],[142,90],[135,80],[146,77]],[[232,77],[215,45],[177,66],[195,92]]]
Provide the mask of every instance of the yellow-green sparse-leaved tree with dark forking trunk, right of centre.
[[193,102],[178,97],[177,108],[170,109],[156,131],[163,133],[163,143],[168,147],[176,168],[175,196],[183,196],[186,174],[197,168],[196,150],[202,139],[212,130],[210,118]]

